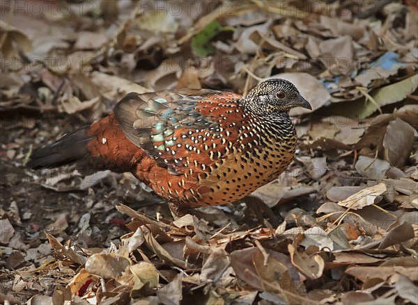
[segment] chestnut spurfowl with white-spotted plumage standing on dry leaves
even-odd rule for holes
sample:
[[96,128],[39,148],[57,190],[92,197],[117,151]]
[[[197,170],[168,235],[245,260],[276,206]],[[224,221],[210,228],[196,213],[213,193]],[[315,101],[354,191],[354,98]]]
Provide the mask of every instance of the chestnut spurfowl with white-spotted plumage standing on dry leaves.
[[75,163],[82,174],[131,172],[169,203],[189,208],[238,201],[277,179],[295,156],[289,111],[312,110],[285,79],[242,96],[210,89],[126,94],[107,117],[34,151],[34,170]]

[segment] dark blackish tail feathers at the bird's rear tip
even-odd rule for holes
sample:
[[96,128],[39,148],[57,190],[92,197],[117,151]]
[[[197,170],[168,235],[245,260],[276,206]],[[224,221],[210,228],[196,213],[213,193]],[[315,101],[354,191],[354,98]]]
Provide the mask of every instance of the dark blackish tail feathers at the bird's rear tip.
[[34,151],[26,167],[34,170],[59,167],[86,158],[89,155],[87,142],[93,138],[86,134],[88,127],[64,135],[58,141]]

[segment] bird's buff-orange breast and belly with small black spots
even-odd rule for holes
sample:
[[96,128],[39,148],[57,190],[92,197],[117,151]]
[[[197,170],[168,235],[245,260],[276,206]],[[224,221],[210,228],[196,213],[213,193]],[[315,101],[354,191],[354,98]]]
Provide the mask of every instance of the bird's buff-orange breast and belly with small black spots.
[[[271,130],[270,130],[271,131]],[[277,179],[295,155],[297,138],[293,126],[288,133],[268,134],[254,141],[231,145],[228,156],[210,167],[199,181],[209,191],[201,195],[204,205],[220,205],[242,199]]]

